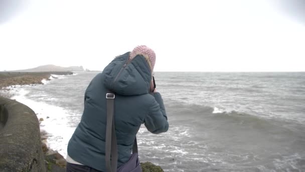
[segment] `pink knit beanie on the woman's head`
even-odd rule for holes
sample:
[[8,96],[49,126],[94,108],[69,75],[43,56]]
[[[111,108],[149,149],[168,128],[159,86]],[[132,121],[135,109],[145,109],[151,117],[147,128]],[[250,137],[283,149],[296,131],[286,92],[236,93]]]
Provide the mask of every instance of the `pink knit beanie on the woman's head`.
[[154,50],[148,48],[145,45],[136,46],[129,54],[129,59],[133,59],[136,55],[142,55],[145,57],[151,71],[154,70],[156,63],[156,54]]

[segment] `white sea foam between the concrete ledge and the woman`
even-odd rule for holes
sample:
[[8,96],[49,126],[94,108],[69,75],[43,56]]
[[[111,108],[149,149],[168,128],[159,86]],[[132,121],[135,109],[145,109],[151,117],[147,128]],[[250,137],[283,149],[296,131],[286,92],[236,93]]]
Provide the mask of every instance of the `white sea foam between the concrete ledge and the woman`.
[[[36,102],[27,99],[26,95],[29,92],[25,88],[16,90],[16,96],[13,96],[12,99],[31,107],[37,114],[38,119],[43,118],[40,128],[49,133],[49,137],[47,138],[49,147],[53,150],[57,150],[65,157],[67,154],[68,141],[75,130],[75,128],[68,127],[69,116],[71,115],[69,111],[64,110],[61,107],[48,105],[41,101]],[[14,92],[14,90],[12,91]]]

